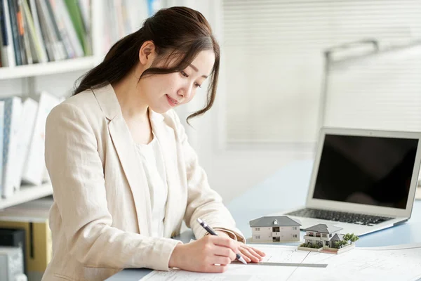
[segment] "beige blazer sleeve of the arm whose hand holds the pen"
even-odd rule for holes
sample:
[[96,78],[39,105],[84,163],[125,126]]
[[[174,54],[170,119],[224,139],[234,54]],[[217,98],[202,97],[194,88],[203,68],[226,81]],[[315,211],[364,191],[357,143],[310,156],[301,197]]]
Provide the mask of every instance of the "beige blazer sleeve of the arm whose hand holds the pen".
[[168,270],[179,241],[112,227],[97,138],[76,105],[62,103],[48,115],[45,156],[69,254],[92,268]]

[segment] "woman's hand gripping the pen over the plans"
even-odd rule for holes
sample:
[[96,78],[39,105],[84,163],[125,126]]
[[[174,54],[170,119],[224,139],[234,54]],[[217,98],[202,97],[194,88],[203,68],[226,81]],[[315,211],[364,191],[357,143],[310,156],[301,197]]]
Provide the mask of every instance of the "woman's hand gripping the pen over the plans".
[[[178,244],[168,266],[201,273],[222,273],[236,259],[239,249],[229,237],[206,235],[188,244]],[[215,263],[220,266],[215,266]]]

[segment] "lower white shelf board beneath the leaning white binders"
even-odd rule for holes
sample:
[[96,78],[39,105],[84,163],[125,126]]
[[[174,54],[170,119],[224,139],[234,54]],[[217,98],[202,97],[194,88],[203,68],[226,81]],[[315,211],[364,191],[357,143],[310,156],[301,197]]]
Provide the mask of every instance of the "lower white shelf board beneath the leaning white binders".
[[12,197],[8,199],[0,199],[0,210],[52,194],[53,188],[51,183],[45,183],[43,185],[22,185],[20,190],[15,192]]

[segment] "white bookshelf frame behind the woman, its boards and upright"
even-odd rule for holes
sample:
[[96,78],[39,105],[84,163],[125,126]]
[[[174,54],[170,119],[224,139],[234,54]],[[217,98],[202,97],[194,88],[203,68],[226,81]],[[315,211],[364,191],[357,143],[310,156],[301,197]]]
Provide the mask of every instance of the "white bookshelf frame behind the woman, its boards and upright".
[[[26,0],[30,4],[31,0]],[[42,0],[44,1],[44,0]],[[46,3],[46,2],[45,2]],[[91,44],[93,55],[71,59],[55,59],[46,63],[34,63],[13,67],[0,67],[0,97],[21,96],[38,100],[41,91],[53,96],[68,96],[75,76],[98,65],[103,55],[103,30],[105,1],[91,0]],[[42,28],[42,27],[41,27]],[[36,200],[53,194],[51,183],[42,185],[21,185],[11,197],[0,196],[0,210]]]

